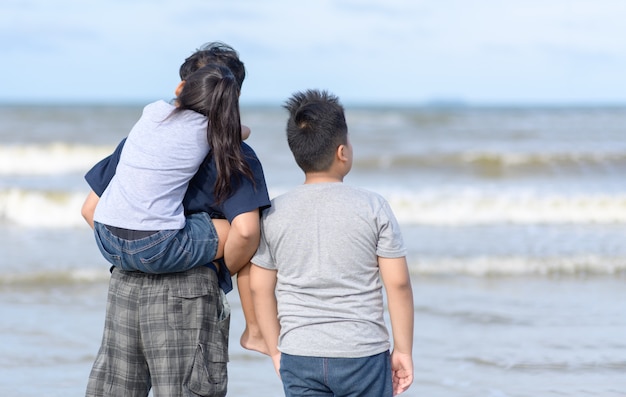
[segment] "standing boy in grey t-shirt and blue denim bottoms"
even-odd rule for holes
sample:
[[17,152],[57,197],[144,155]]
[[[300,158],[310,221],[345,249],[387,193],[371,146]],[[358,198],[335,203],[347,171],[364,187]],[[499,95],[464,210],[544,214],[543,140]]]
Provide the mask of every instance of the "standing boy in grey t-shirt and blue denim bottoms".
[[338,98],[309,90],[285,108],[305,182],[263,214],[250,270],[257,320],[285,395],[402,393],[413,381],[413,293],[398,223],[380,195],[343,184],[352,146]]

